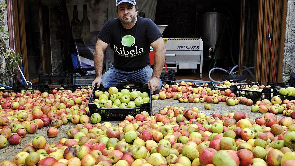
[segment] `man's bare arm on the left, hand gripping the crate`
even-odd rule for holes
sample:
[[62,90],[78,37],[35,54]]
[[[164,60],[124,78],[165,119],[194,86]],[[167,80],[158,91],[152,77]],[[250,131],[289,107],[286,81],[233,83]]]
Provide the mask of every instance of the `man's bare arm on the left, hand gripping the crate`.
[[104,62],[104,51],[108,47],[109,44],[103,42],[98,38],[96,45],[95,45],[95,50],[94,50],[94,69],[95,69],[95,74],[96,78],[92,82],[92,89],[94,88],[94,85],[97,83],[97,88],[101,84],[101,76],[102,76],[102,66]]

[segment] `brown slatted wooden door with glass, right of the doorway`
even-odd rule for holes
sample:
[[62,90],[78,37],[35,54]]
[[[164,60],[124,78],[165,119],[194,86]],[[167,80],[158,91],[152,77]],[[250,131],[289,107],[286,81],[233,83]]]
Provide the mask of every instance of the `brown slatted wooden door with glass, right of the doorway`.
[[287,0],[242,0],[239,73],[248,82],[275,82],[274,73],[276,81],[281,82],[286,4]]

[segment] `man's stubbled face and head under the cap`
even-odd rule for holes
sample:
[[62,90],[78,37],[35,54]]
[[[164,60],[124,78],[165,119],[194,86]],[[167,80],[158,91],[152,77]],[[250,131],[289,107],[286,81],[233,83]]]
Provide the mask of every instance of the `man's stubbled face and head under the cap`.
[[123,24],[132,24],[135,22],[137,11],[134,5],[123,2],[118,6],[118,17]]

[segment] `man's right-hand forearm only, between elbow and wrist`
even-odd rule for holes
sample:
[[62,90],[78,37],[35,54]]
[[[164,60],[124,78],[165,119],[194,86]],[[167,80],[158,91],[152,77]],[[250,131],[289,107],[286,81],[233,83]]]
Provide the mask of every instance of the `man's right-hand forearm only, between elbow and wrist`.
[[163,70],[164,62],[166,56],[165,47],[155,51],[155,60],[154,60],[154,70],[152,77],[160,78],[160,75]]

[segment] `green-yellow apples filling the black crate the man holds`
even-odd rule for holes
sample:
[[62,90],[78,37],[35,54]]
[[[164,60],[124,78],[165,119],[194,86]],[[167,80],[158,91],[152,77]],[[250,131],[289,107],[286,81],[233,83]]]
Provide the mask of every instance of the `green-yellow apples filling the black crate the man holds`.
[[150,102],[147,92],[130,92],[128,89],[122,89],[118,92],[116,87],[110,87],[108,92],[96,90],[94,95],[96,99],[93,103],[98,108],[136,108],[141,107],[142,103]]

